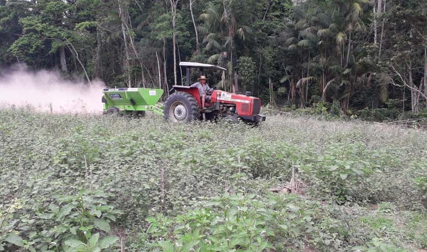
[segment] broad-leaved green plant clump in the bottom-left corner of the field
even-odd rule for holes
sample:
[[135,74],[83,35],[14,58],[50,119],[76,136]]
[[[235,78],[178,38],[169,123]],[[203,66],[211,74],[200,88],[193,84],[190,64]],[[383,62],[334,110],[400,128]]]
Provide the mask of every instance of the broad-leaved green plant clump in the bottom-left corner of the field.
[[[118,237],[106,236],[100,240],[99,232],[110,233],[109,222],[123,213],[107,203],[112,196],[101,191],[81,190],[76,195],[57,196],[58,204],[50,203],[39,209],[31,221],[5,215],[13,224],[0,226],[0,231],[4,230],[0,232],[0,248],[20,246],[30,251],[101,251],[109,248]],[[10,211],[14,208],[22,206],[12,205]],[[42,230],[38,230],[39,224],[43,225]],[[13,231],[13,228],[22,231]]]

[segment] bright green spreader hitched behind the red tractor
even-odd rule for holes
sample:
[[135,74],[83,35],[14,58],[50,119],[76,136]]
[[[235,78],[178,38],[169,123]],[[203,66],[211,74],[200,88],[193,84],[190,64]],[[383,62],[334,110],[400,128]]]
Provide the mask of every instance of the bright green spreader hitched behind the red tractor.
[[144,115],[145,111],[153,111],[163,114],[163,105],[158,104],[163,95],[163,89],[151,88],[105,88],[104,112],[107,114],[139,114]]

